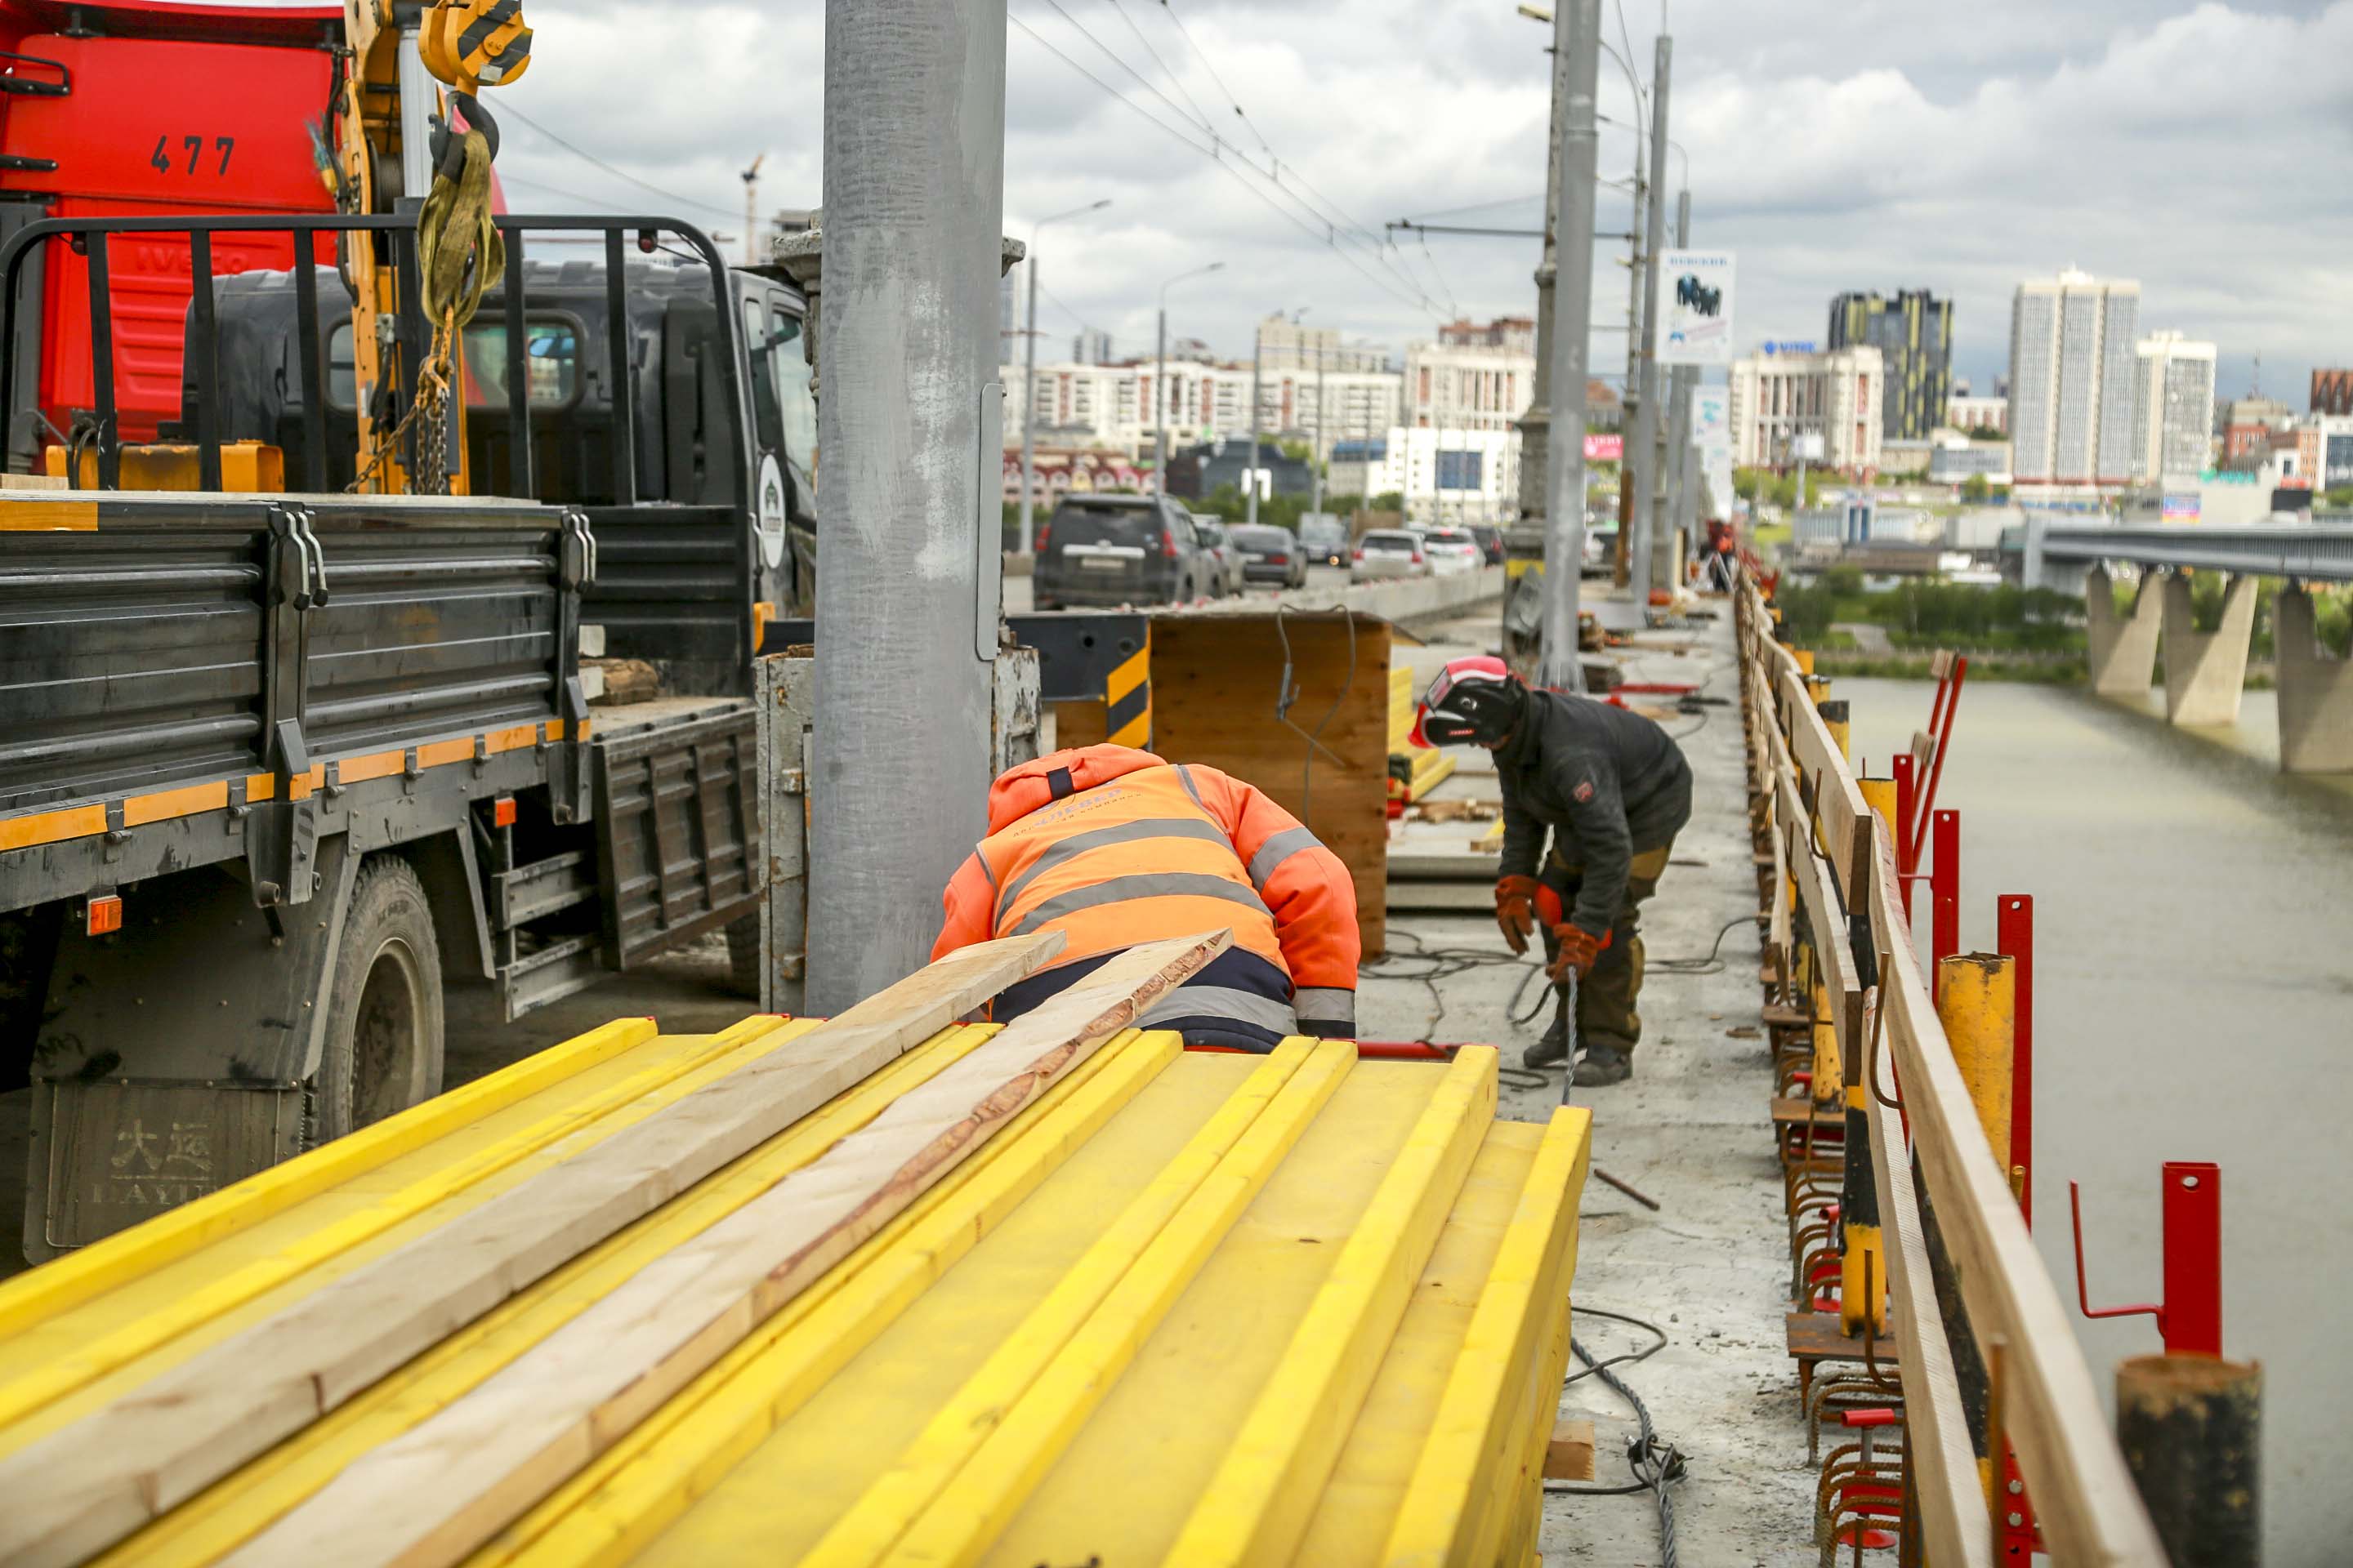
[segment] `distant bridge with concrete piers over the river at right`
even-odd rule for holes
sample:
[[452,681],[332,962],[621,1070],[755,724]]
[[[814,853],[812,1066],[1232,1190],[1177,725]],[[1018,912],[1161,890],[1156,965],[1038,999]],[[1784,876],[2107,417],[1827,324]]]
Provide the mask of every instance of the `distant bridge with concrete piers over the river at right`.
[[[2132,611],[2111,564],[2141,569]],[[2273,604],[2280,661],[2280,769],[2353,773],[2353,661],[2329,658],[2306,583],[2353,583],[2353,524],[2106,524],[2028,517],[2002,529],[2002,567],[2026,588],[2082,592],[2092,691],[2139,701],[2165,654],[2165,717],[2235,724],[2254,635],[2254,578],[2287,578]],[[2221,623],[2200,632],[2193,571],[2228,578]]]

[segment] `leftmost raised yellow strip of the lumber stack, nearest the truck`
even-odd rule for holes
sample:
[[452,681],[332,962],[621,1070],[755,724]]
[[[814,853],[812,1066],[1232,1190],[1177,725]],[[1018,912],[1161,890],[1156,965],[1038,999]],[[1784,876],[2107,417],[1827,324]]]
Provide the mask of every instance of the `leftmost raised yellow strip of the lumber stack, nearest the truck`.
[[[736,1025],[736,1032],[753,1025],[758,1025],[758,1030],[767,1030],[774,1027],[776,1020],[746,1018]],[[732,1034],[734,1032],[713,1039],[729,1039]],[[320,1194],[339,1182],[348,1182],[365,1171],[374,1171],[376,1166],[384,1166],[409,1150],[424,1147],[456,1126],[478,1121],[480,1117],[487,1117],[506,1105],[515,1105],[551,1084],[560,1084],[562,1079],[586,1072],[621,1051],[640,1046],[652,1037],[652,1018],[616,1018],[614,1023],[591,1030],[576,1039],[551,1046],[548,1051],[529,1056],[511,1067],[501,1067],[485,1079],[452,1088],[449,1093],[435,1095],[424,1105],[412,1105],[398,1117],[386,1117],[384,1121],[365,1126],[348,1138],[336,1138],[334,1143],[299,1159],[271,1166],[268,1171],[249,1175],[231,1187],[221,1187],[219,1192],[200,1197],[198,1201],[169,1213],[155,1215],[144,1225],[134,1225],[127,1232],[108,1237],[106,1241],[85,1246],[82,1251],[38,1267],[31,1274],[19,1274],[7,1286],[0,1286],[0,1338],[24,1333],[33,1324],[52,1319],[59,1312],[104,1295],[106,1291],[134,1284],[165,1262],[186,1258],[209,1241],[219,1241],[226,1234],[285,1213],[313,1194]],[[638,1093],[642,1093],[642,1088]],[[513,1157],[525,1152],[529,1150],[518,1147]],[[153,1324],[153,1335],[167,1338],[179,1333],[188,1319],[186,1307],[186,1300],[174,1302],[174,1312]],[[21,1413],[33,1403],[42,1403],[42,1399],[19,1392],[16,1380],[0,1382],[0,1410]],[[0,1420],[7,1420],[7,1415],[0,1415]]]

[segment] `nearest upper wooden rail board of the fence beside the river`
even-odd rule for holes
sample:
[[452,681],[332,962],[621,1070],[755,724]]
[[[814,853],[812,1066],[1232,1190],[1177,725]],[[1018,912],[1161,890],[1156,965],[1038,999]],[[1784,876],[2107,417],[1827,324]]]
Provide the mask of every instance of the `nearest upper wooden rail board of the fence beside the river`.
[[[1866,844],[1873,931],[1889,954],[1880,973],[1885,1046],[1904,1086],[1913,1150],[1937,1204],[1944,1244],[1953,1253],[1969,1328],[1981,1349],[1995,1335],[2007,1345],[2009,1441],[2026,1472],[2042,1540],[2049,1542],[2054,1563],[2162,1568],[2165,1549],[2108,1432],[2068,1309],[2059,1302],[2009,1182],[1993,1161],[1969,1086],[1937,1020],[1913,952],[1911,922],[1904,919],[1894,844],[1878,818],[1868,818]],[[1894,1173],[1885,1180],[1882,1192],[1889,1192]],[[1899,1267],[1920,1269],[1913,1279],[1925,1279],[1925,1251],[1908,1255],[1904,1265],[1889,1262],[1889,1274]],[[1906,1354],[1911,1349],[1906,1345]],[[1955,1561],[1986,1561],[1986,1552]]]

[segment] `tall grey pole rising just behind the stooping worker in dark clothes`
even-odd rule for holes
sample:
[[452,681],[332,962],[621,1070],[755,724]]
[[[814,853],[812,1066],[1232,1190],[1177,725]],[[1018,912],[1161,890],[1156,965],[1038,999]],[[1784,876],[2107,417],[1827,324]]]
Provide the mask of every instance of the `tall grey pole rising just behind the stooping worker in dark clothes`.
[[[1553,49],[1560,71],[1560,155],[1553,160],[1558,233],[1553,244],[1551,425],[1544,473],[1544,654],[1537,679],[1584,691],[1577,658],[1577,592],[1586,559],[1586,364],[1593,320],[1593,174],[1600,129],[1593,99],[1600,80],[1602,0],[1560,0]],[[1525,461],[1525,458],[1522,458]]]

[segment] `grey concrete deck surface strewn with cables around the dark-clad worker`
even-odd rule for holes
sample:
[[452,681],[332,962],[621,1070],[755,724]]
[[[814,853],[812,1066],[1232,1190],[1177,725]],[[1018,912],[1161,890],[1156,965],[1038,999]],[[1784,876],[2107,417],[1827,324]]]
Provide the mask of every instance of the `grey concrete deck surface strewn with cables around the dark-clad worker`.
[[[1624,602],[1588,607],[1605,625],[1631,625],[1633,607]],[[1398,658],[1417,668],[1417,682],[1447,658],[1497,651],[1492,614],[1421,632],[1431,639],[1426,646],[1398,649]],[[1704,630],[1647,632],[1640,642],[1645,646],[1624,654],[1628,679],[1704,682],[1704,696],[1737,701],[1729,611]],[[1687,644],[1682,656],[1671,646],[1678,642]],[[1687,1455],[1689,1479],[1675,1488],[1680,1561],[1779,1568],[1814,1561],[1814,1472],[1805,1462],[1795,1366],[1781,1345],[1788,1251],[1765,1121],[1772,1081],[1758,1030],[1755,877],[1737,712],[1722,705],[1708,708],[1706,722],[1680,715],[1666,722],[1692,762],[1697,788],[1692,825],[1675,839],[1673,863],[1642,919],[1649,973],[1635,1077],[1614,1088],[1577,1091],[1577,1103],[1593,1107],[1595,1164],[1659,1199],[1661,1211],[1649,1213],[1598,1180],[1586,1185],[1574,1300],[1579,1309],[1649,1319],[1671,1335],[1659,1354],[1614,1371]],[[1497,783],[1487,755],[1473,750],[1433,799],[1478,797],[1494,799]],[[1428,851],[1459,851],[1485,830],[1487,823],[1405,825],[1409,849]],[[1661,969],[1661,961],[1704,957],[1727,924],[1718,969]],[[1515,1067],[1551,1006],[1541,980],[1520,990],[1527,964],[1482,964],[1431,983],[1402,978],[1431,969],[1405,957],[1417,945],[1508,959],[1494,922],[1485,912],[1391,912],[1388,931],[1393,959],[1367,969],[1358,999],[1365,1037],[1489,1041],[1504,1046],[1506,1067]],[[1515,997],[1522,1013],[1539,1009],[1525,1025],[1511,1018]],[[1558,1105],[1558,1072],[1541,1084],[1508,1077],[1525,1086],[1506,1086],[1501,1114],[1541,1119]],[[1595,1356],[1647,1342],[1635,1328],[1593,1316],[1579,1316],[1574,1333]],[[1584,1378],[1562,1392],[1560,1410],[1595,1425],[1595,1483],[1626,1483],[1624,1443],[1638,1432],[1626,1403],[1598,1378]],[[1555,1495],[1546,1505],[1541,1549],[1546,1563],[1657,1563],[1657,1509],[1649,1495]]]

